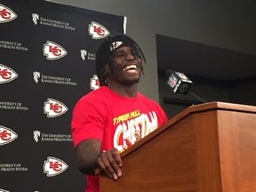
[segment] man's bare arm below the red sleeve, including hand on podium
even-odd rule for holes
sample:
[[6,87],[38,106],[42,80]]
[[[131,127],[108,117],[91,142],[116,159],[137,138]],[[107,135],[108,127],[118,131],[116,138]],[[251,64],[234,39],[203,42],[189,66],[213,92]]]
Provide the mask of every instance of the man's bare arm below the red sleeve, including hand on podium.
[[76,146],[76,156],[80,172],[95,174],[97,167],[107,172],[113,180],[122,176],[122,160],[116,148],[100,153],[100,140],[84,140]]

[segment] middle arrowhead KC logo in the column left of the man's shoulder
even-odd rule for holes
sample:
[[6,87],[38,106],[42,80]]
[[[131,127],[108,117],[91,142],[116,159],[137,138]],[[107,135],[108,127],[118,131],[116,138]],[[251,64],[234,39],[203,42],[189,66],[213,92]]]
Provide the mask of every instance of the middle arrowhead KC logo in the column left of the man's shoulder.
[[67,111],[68,108],[59,100],[48,98],[48,100],[44,102],[44,114],[47,114],[47,117],[61,116]]

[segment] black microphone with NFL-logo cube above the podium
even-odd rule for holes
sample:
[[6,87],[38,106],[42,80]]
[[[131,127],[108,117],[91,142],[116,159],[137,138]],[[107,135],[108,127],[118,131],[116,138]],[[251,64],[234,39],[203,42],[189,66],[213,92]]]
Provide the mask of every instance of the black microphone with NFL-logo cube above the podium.
[[175,94],[187,95],[189,93],[201,102],[206,102],[205,100],[198,97],[195,93],[189,91],[193,82],[184,73],[167,69],[165,71],[165,75],[168,77],[167,84],[172,88],[172,92]]

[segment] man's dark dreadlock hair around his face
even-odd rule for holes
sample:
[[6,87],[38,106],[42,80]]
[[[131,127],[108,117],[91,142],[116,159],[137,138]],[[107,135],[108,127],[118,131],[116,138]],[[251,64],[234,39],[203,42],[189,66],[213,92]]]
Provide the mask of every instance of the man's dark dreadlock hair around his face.
[[132,55],[141,60],[140,70],[144,75],[142,61],[146,63],[146,59],[140,49],[140,46],[130,36],[126,36],[124,34],[115,34],[104,39],[103,42],[101,42],[98,51],[96,52],[96,73],[100,81],[100,86],[107,85],[106,77],[108,75],[105,73],[105,65],[109,65],[113,51],[116,48],[116,42],[122,42],[123,46],[131,47]]

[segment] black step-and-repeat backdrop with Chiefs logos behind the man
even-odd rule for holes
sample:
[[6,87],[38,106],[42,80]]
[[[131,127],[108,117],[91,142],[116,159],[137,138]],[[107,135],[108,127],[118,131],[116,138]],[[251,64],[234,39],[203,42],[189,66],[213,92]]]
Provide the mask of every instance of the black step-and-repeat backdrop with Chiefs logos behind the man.
[[84,191],[72,109],[99,88],[95,52],[126,18],[42,0],[0,1],[0,191]]

